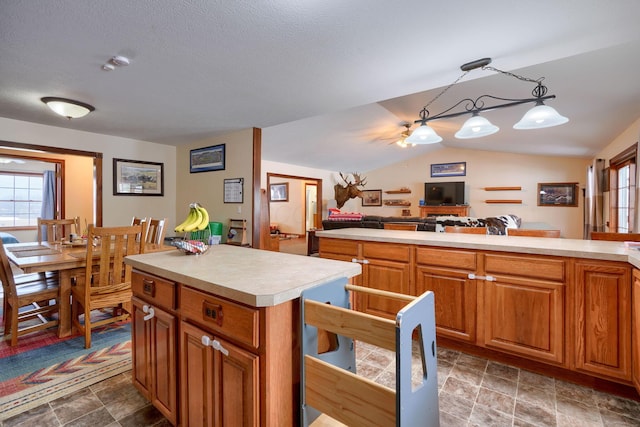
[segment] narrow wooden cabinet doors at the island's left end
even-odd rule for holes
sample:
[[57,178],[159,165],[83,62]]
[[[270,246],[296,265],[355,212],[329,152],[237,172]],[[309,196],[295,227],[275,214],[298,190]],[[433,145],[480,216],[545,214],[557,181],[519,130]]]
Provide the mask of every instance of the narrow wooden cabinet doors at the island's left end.
[[[176,317],[133,297],[133,383],[172,424],[177,422]],[[153,314],[144,307],[153,309]],[[147,317],[147,319],[145,319]]]

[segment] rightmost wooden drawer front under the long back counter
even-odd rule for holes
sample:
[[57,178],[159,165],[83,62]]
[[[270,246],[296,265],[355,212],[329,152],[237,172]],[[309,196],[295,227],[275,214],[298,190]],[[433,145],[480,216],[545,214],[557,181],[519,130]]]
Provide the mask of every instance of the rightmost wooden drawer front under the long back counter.
[[528,257],[525,255],[485,255],[487,274],[509,274],[532,279],[565,281],[565,262],[562,259]]

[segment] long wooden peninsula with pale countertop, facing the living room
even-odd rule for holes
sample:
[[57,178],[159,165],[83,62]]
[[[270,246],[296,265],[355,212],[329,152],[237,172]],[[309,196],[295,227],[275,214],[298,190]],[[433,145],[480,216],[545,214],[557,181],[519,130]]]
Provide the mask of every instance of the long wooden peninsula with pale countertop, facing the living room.
[[[356,285],[433,291],[439,346],[639,398],[632,387],[640,389],[638,250],[622,242],[362,228],[316,235],[321,257],[363,266]],[[355,308],[388,318],[398,310],[366,295]]]

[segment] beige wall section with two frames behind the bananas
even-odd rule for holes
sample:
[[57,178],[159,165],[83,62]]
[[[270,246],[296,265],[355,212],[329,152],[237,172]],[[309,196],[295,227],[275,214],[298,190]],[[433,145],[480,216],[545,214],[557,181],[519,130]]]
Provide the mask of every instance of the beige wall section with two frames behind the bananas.
[[[190,173],[190,151],[197,148],[225,144],[225,169]],[[223,224],[223,241],[229,232],[229,219],[247,220],[247,241],[252,243],[253,224],[253,129],[246,129],[220,137],[207,138],[178,147],[176,152],[176,205],[178,222],[189,213],[189,204],[198,202],[209,212],[210,221]],[[244,178],[243,203],[224,203],[224,180]],[[171,225],[168,236],[174,235]]]

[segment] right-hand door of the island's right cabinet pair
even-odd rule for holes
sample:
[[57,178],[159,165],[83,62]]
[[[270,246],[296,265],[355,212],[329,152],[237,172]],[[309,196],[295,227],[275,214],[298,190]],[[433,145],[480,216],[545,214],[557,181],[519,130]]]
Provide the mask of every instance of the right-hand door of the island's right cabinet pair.
[[258,356],[219,339],[223,351],[214,354],[217,426],[260,424]]

